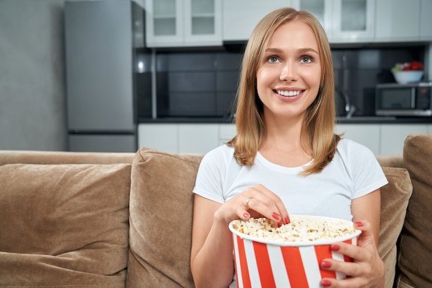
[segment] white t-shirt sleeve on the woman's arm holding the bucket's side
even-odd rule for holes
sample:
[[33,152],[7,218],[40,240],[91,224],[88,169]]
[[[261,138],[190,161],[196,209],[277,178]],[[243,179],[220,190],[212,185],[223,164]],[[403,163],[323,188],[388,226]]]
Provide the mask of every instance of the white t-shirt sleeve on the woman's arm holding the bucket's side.
[[351,143],[353,199],[369,194],[389,183],[380,163],[369,148]]

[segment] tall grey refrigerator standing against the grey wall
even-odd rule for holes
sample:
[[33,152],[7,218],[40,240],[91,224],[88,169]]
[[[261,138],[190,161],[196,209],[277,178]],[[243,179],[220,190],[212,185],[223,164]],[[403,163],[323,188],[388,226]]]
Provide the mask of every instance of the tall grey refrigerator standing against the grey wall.
[[66,1],[68,148],[135,152],[137,107],[151,111],[144,10],[133,1]]

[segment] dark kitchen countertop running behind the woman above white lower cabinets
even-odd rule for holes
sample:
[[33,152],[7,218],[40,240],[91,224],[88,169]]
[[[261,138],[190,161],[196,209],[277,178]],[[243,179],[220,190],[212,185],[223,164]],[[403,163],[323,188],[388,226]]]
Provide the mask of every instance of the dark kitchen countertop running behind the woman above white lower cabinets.
[[[228,117],[161,117],[157,119],[141,118],[138,123],[233,123]],[[432,117],[394,117],[394,116],[352,116],[337,117],[337,124],[422,124],[432,123]]]

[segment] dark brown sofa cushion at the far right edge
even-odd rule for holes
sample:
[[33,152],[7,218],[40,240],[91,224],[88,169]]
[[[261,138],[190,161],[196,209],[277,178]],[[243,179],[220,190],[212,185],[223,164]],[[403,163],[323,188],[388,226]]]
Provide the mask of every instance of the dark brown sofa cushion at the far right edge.
[[413,182],[400,239],[397,287],[432,287],[432,134],[410,134],[404,164]]

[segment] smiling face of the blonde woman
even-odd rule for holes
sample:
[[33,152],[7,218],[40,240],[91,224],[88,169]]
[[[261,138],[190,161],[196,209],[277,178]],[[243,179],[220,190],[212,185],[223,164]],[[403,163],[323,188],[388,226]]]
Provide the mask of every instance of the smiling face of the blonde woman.
[[320,89],[321,64],[312,29],[294,20],[279,26],[257,70],[257,92],[268,117],[304,117]]

